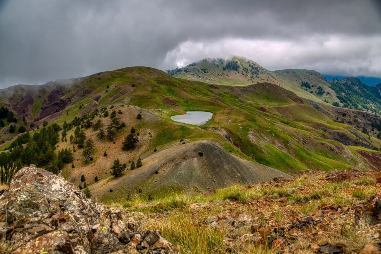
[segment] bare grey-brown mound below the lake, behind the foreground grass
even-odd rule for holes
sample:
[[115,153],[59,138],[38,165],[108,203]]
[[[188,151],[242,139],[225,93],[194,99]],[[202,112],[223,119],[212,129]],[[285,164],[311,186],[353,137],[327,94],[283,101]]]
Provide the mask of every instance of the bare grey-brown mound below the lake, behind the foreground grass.
[[276,169],[243,160],[220,146],[211,140],[178,143],[144,158],[141,168],[127,171],[120,179],[100,181],[89,189],[94,197],[102,200],[103,193],[111,188],[113,192],[107,199],[120,200],[126,191],[134,193],[138,189],[146,190],[145,193],[157,190],[161,190],[160,193],[171,190],[205,192],[233,184],[269,182],[280,176],[291,178]]

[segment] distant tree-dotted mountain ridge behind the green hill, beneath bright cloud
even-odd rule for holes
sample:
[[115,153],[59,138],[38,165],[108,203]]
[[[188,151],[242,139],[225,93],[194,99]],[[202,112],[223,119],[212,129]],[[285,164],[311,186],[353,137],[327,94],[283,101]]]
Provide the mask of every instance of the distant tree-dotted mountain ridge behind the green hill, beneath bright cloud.
[[272,72],[241,56],[202,59],[186,67],[169,70],[168,74],[220,85],[269,82],[313,101],[330,104],[338,102],[349,109],[381,113],[381,83],[367,86],[353,77],[328,81],[314,70],[285,69]]

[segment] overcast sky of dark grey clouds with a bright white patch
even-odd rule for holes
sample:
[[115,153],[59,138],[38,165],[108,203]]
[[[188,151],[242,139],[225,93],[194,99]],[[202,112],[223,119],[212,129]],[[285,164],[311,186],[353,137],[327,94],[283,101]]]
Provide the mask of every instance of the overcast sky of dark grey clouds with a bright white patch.
[[0,88],[245,56],[269,70],[381,78],[381,6],[366,0],[3,0]]

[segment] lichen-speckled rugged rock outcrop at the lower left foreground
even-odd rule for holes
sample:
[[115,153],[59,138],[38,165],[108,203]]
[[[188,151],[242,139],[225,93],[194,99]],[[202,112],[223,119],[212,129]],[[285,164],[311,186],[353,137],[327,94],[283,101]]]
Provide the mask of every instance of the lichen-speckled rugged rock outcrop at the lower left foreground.
[[10,253],[177,253],[158,230],[136,232],[118,208],[97,204],[72,183],[35,165],[0,196],[0,238]]

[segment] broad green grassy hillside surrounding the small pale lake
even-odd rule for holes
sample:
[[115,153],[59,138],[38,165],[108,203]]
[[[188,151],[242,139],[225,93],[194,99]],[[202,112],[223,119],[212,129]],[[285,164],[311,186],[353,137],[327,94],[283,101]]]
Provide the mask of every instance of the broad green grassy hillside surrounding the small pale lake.
[[[248,61],[245,63],[253,66]],[[236,65],[231,64],[231,68],[235,67]],[[243,67],[240,65],[238,69],[240,68]],[[223,71],[232,72],[231,69]],[[263,80],[264,75],[272,74],[258,67],[257,75]],[[268,77],[280,82],[280,78],[276,75],[280,74],[274,73],[273,77]],[[266,81],[267,79],[269,78],[266,78]],[[90,179],[87,184],[94,182],[94,177],[98,176],[98,179],[103,179],[102,184],[107,186],[108,181],[115,181],[111,180],[110,173],[107,172],[117,158],[127,166],[128,161],[137,160],[138,157],[144,158],[143,161],[147,160],[147,163],[148,161],[154,163],[152,162],[154,148],[168,149],[167,152],[170,153],[169,148],[178,142],[183,142],[181,140],[186,142],[212,140],[231,156],[289,174],[296,174],[299,170],[306,169],[324,171],[353,167],[366,169],[378,163],[379,152],[370,149],[379,148],[381,141],[368,138],[367,134],[351,125],[334,121],[312,107],[305,97],[302,99],[293,91],[272,84],[270,81],[251,85],[242,83],[239,86],[227,84],[212,85],[175,78],[148,67],[130,67],[74,80],[56,81],[43,86],[13,87],[4,90],[1,98],[3,105],[26,117],[24,123],[21,121],[21,124],[25,125],[28,121],[33,121],[35,126],[42,126],[43,121],[47,121],[62,126],[64,121],[69,123],[75,117],[89,115],[95,109],[101,110],[104,107],[110,113],[112,110],[122,111],[118,117],[125,122],[126,127],[117,132],[113,141],[99,140],[96,137],[97,131],[83,128],[86,139],[92,137],[96,144],[91,152],[92,161],[85,161],[84,157],[80,156],[83,149],[77,148],[77,145],[70,143],[69,139],[56,144],[58,147],[56,152],[62,148],[72,149],[75,145],[77,150],[74,153],[75,168],[65,164],[63,174],[76,185],[81,183],[79,178],[84,174],[86,179]],[[310,80],[309,84],[312,86],[315,83]],[[315,95],[305,89],[300,86],[294,87],[299,94],[317,98],[327,97],[327,93]],[[15,99],[10,100],[16,98],[18,94],[22,95],[16,102],[13,102]],[[129,105],[136,107],[127,107]],[[170,118],[172,115],[189,110],[209,111],[213,113],[213,117],[200,127],[179,124]],[[139,112],[144,115],[141,121],[136,119]],[[109,117],[99,116],[100,114],[93,115],[91,121],[95,123],[98,119],[102,119],[105,127],[111,122]],[[67,137],[74,133],[77,125],[86,126],[86,121],[85,118],[82,122],[75,121],[68,130]],[[122,142],[130,133],[132,126],[141,134],[139,136],[141,143],[135,149],[124,152],[121,149]],[[32,129],[35,127],[29,128],[30,131]],[[31,134],[33,133],[32,131]],[[13,140],[3,144],[2,149],[7,149]],[[364,153],[346,146],[356,144],[362,145]],[[107,157],[103,156],[105,150],[109,154]],[[162,156],[166,157],[169,154],[163,153]],[[218,160],[218,156],[221,155],[216,153],[215,156]],[[154,182],[157,181],[147,182],[145,186],[151,186]],[[108,189],[103,189],[99,196],[114,195],[107,193]],[[135,190],[122,189],[118,195],[129,191]]]

